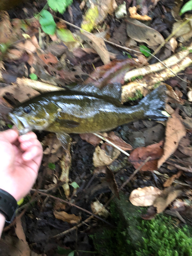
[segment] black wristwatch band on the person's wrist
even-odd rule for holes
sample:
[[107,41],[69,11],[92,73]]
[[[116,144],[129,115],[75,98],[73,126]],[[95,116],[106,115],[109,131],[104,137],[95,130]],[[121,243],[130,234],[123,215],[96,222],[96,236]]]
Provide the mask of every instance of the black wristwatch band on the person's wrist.
[[17,201],[8,192],[0,188],[0,213],[6,218],[6,223],[10,224],[17,209]]

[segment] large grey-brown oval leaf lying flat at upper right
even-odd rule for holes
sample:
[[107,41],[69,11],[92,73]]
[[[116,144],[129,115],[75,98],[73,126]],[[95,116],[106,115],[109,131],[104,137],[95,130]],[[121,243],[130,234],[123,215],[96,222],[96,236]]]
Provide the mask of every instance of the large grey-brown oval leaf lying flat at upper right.
[[129,37],[138,41],[145,42],[148,46],[161,45],[164,42],[163,36],[145,24],[139,22],[136,19],[126,19],[126,32]]

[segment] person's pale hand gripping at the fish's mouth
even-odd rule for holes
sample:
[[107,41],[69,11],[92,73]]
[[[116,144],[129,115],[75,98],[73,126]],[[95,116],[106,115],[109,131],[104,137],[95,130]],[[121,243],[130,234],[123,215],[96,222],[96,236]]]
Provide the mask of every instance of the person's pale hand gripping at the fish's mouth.
[[19,136],[15,130],[0,132],[0,188],[16,201],[35,183],[42,159],[42,146],[33,132]]

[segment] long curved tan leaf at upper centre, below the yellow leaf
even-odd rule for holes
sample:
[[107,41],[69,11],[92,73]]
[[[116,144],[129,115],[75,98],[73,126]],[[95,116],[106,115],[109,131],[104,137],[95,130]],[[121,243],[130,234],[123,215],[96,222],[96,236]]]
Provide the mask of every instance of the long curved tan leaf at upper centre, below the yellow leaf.
[[110,54],[108,49],[106,49],[103,38],[97,37],[94,34],[88,34],[86,32],[80,34],[80,37],[98,53],[104,65],[110,62]]

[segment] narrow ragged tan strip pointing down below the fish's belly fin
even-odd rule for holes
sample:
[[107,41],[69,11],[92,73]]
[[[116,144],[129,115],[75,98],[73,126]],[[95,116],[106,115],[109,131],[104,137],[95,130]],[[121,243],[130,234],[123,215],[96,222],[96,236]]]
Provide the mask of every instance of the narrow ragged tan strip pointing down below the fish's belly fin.
[[61,159],[60,159],[60,167],[61,167],[61,175],[59,180],[61,182],[65,181],[65,184],[62,185],[63,190],[65,191],[65,195],[69,198],[70,188],[69,188],[69,169],[71,167],[71,138],[68,144],[68,149],[64,151]]

